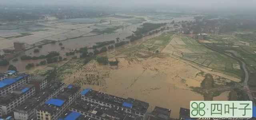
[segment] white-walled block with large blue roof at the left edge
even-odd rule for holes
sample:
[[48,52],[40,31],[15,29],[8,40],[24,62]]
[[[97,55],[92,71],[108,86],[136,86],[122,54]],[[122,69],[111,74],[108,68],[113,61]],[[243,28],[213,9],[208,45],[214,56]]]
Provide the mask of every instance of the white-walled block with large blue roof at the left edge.
[[17,89],[20,85],[25,83],[26,79],[22,76],[10,76],[0,81],[0,96]]

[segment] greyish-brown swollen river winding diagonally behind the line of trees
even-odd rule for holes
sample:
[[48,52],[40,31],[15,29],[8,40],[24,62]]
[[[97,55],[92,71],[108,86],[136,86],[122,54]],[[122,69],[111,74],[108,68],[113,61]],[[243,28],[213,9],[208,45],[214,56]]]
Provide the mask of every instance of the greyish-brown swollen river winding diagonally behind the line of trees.
[[[78,19],[80,19],[80,18],[78,18]],[[81,19],[84,19],[84,18],[81,18]],[[193,17],[184,17],[184,18],[174,18],[173,20],[178,22],[181,20],[192,20],[192,19],[193,19]],[[66,20],[71,20],[71,19],[66,19]],[[164,23],[164,22],[172,22],[172,20],[161,20],[161,21],[147,20],[146,22]],[[145,23],[145,22],[143,22],[143,23]],[[58,42],[56,42],[55,44],[51,44],[51,43],[46,44],[46,45],[43,45],[42,48],[40,48],[39,53],[34,53],[34,49],[36,49],[36,48],[33,48],[33,49],[29,49],[29,50],[25,51],[24,53],[22,53],[22,55],[40,56],[40,55],[46,55],[46,54],[48,54],[48,52],[51,52],[51,51],[57,51],[62,55],[63,58],[71,59],[70,56],[67,57],[67,56],[64,56],[64,54],[66,52],[69,52],[69,51],[75,50],[75,49],[79,49],[81,47],[92,47],[93,45],[95,45],[95,42],[111,41],[111,40],[116,41],[116,37],[119,37],[121,39],[121,41],[128,41],[128,39],[126,39],[126,37],[129,35],[132,35],[132,31],[136,31],[136,29],[138,27],[140,27],[143,23],[133,24],[133,25],[127,26],[126,28],[120,28],[117,30],[116,33],[101,34],[101,35],[87,36],[87,37],[78,37],[75,39],[68,39],[65,41],[60,41],[60,43],[63,44],[62,46],[59,46]],[[132,42],[132,44],[138,43],[140,41],[144,41],[146,39],[150,39],[152,37],[156,37],[157,35],[160,35],[163,32],[164,31],[160,31],[160,32],[152,34],[152,35],[147,35],[141,39],[138,39],[137,41]],[[60,47],[65,47],[65,49],[61,50]],[[122,48],[122,47],[119,47],[117,49],[120,49],[120,48]],[[36,64],[40,63],[40,61],[43,61],[43,59],[38,59],[36,61],[33,61],[33,60],[20,61],[20,56],[18,57],[19,61],[16,61],[16,62],[10,61],[10,65],[16,66],[16,68],[20,72],[26,71],[25,67],[28,63],[34,63],[36,65]],[[8,66],[0,67],[0,72],[4,72],[4,71],[6,71],[6,69],[8,69]]]

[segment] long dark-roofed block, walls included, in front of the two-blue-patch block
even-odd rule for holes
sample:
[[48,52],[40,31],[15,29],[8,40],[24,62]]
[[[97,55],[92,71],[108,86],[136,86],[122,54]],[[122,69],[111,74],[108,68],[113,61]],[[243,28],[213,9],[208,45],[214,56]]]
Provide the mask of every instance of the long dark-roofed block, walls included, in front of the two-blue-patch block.
[[142,116],[126,112],[126,108],[110,108],[109,106],[83,100],[76,100],[69,107],[69,110],[96,120],[143,120]]

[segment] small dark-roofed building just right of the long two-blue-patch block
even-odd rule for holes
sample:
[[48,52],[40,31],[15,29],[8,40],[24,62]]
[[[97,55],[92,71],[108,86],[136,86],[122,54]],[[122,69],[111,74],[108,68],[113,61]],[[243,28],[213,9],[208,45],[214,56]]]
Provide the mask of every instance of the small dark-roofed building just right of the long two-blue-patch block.
[[170,120],[171,110],[156,106],[148,120]]

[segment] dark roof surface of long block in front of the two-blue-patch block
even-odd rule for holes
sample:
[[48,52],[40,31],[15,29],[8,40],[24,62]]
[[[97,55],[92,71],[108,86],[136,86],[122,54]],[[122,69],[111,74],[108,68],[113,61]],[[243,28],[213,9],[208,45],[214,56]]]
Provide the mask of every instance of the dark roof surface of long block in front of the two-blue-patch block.
[[107,119],[110,118],[109,116],[113,116],[115,118],[119,118],[119,120],[142,120],[142,117],[136,117],[130,113],[126,113],[122,108],[109,108],[97,103],[94,104],[83,100],[76,100],[75,103],[70,106],[70,108],[95,114],[96,116]]

